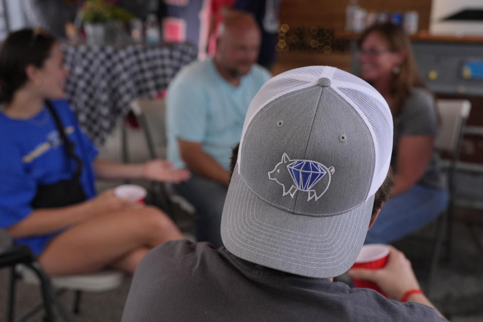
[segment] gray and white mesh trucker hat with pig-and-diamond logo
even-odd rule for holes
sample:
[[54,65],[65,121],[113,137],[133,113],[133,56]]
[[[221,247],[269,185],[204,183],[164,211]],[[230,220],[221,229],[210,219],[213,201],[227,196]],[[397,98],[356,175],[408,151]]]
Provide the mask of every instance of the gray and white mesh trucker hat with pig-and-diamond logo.
[[247,261],[309,277],[359,254],[392,151],[392,117],[362,79],[329,66],[271,78],[250,104],[221,221]]

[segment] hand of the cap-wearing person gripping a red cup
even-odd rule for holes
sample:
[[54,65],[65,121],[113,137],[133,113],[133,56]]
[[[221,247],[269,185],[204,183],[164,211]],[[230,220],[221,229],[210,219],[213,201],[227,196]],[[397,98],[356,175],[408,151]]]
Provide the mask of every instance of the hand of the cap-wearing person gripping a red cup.
[[349,276],[376,283],[382,291],[395,300],[412,289],[419,289],[419,283],[414,275],[411,262],[403,252],[389,246],[390,253],[385,267],[378,270],[351,269]]

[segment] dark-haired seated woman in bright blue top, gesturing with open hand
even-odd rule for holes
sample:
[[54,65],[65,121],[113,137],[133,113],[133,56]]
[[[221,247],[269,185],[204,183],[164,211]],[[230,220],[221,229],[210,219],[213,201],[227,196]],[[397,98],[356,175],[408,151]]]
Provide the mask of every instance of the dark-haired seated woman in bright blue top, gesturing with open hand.
[[[122,165],[97,150],[63,101],[68,71],[56,40],[25,29],[0,51],[0,228],[29,246],[48,274],[82,274],[110,266],[134,272],[142,257],[181,239],[159,210],[96,196],[94,178],[181,182],[189,172],[154,160]],[[58,131],[64,129],[64,133]]]

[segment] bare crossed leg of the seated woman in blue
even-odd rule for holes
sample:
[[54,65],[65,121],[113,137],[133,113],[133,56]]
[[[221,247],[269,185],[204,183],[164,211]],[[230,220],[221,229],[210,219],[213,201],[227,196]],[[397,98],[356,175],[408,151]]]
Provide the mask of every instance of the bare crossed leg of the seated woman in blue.
[[164,213],[153,207],[129,209],[98,215],[65,230],[52,239],[39,262],[50,275],[86,274],[115,262],[131,271],[142,254],[134,251],[170,239],[183,235]]

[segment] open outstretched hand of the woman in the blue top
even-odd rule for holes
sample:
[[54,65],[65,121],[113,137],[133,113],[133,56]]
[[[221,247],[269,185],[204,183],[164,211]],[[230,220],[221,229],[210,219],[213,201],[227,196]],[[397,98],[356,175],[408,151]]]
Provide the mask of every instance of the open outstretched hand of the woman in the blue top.
[[180,183],[191,177],[186,169],[174,169],[171,162],[165,160],[152,160],[147,162],[142,170],[143,177],[156,181]]

